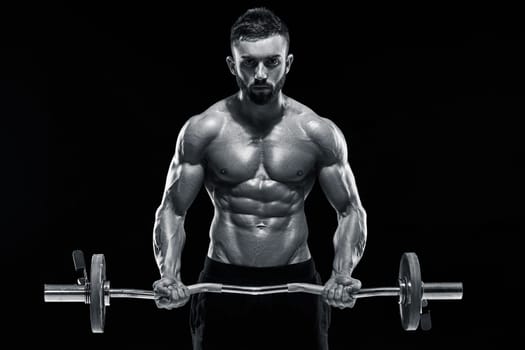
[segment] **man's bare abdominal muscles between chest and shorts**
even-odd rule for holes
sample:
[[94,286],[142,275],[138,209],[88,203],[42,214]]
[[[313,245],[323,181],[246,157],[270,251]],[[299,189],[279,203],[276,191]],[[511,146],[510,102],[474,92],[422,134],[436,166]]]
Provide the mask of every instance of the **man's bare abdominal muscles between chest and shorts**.
[[208,256],[253,267],[310,259],[303,198],[289,194],[271,202],[233,196],[232,192],[215,196]]

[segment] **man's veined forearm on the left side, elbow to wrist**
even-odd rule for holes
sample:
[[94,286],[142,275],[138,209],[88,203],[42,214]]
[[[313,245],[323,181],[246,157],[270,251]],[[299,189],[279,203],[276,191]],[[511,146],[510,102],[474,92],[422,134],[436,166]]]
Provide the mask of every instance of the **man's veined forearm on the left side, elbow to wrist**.
[[161,277],[181,279],[181,254],[186,240],[184,219],[169,203],[163,203],[156,212],[153,248]]

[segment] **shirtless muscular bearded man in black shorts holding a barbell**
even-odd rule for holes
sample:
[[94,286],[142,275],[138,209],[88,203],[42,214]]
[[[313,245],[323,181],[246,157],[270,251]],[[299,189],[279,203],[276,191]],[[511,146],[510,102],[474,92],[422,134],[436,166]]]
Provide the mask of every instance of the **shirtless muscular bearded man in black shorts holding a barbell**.
[[354,305],[361,283],[352,271],[366,242],[345,139],[333,122],[283,94],[293,55],[277,16],[248,10],[233,24],[230,42],[226,61],[239,91],[183,126],[156,212],[156,303],[171,309],[190,299],[181,281],[184,219],[203,184],[215,214],[199,282],[322,284],[304,213],[318,179],[338,218],[323,296],[201,293],[192,296],[190,326],[194,349],[326,349],[328,305]]

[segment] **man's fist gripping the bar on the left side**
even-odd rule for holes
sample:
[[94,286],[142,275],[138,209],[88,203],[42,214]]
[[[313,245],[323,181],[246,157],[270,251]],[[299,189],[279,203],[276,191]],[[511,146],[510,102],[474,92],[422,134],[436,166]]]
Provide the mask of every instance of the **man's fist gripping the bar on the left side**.
[[159,309],[174,309],[190,300],[190,291],[181,281],[163,277],[153,283],[155,304]]

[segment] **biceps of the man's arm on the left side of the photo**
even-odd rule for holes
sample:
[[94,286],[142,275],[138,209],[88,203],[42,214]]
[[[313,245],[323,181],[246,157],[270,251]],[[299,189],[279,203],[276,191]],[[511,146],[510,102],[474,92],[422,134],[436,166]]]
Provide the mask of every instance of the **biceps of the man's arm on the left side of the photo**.
[[166,179],[163,206],[169,206],[177,215],[184,215],[199,193],[204,180],[201,164],[172,163]]

